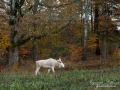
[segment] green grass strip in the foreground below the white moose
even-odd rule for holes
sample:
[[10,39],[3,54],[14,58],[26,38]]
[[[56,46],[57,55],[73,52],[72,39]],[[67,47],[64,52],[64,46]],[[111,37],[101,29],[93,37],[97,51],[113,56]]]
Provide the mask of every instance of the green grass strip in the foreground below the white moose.
[[[96,87],[97,85],[101,87]],[[119,88],[120,68],[56,71],[54,75],[41,73],[38,76],[0,75],[0,90],[119,90]]]

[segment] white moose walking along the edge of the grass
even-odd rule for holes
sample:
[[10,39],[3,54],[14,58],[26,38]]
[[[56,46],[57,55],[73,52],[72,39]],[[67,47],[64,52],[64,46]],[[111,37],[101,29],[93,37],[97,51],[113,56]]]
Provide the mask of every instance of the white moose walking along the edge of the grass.
[[60,67],[64,67],[64,64],[63,62],[61,61],[61,59],[59,58],[59,60],[55,60],[53,58],[49,58],[49,59],[46,59],[46,60],[38,60],[36,61],[36,75],[37,73],[40,74],[39,72],[39,69],[42,67],[42,68],[48,68],[48,73],[50,72],[50,70],[52,70],[52,72],[54,73],[55,70],[54,70],[54,67],[55,66],[59,66]]

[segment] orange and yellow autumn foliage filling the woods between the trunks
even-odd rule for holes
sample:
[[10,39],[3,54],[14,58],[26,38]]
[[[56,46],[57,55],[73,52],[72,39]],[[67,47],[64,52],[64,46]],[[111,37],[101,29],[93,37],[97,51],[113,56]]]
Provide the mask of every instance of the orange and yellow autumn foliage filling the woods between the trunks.
[[[16,47],[18,48],[19,59],[23,61],[31,60],[36,50],[37,59],[62,57],[74,62],[81,61],[82,49],[84,48],[87,49],[86,56],[89,59],[90,55],[95,53],[96,40],[99,41],[99,50],[102,54],[104,53],[103,50],[106,50],[104,55],[109,54],[107,52],[111,49],[109,47],[111,43],[117,43],[116,46],[118,46],[120,41],[120,32],[117,30],[118,23],[117,21],[113,22],[111,18],[117,17],[116,15],[119,15],[120,12],[117,8],[113,13],[110,11],[116,3],[105,0],[90,0],[90,10],[88,10],[90,18],[88,20],[87,38],[85,38],[87,47],[83,47],[85,22],[83,0],[42,0],[36,12],[33,2],[34,0],[25,0],[20,9],[20,17],[18,17],[18,13],[15,13],[16,24],[13,26],[9,26],[8,23],[10,14],[7,12],[1,14],[0,51],[9,51],[6,49],[11,46],[12,52]],[[97,18],[95,17],[96,4],[98,4]],[[95,26],[96,20],[97,28]],[[14,27],[14,32],[10,32],[11,27]],[[17,42],[14,42],[15,40]],[[35,45],[36,47],[34,47]],[[120,57],[119,51],[118,49],[112,53],[117,59]],[[7,57],[8,59],[9,57]],[[15,63],[13,68],[17,71],[18,63]]]

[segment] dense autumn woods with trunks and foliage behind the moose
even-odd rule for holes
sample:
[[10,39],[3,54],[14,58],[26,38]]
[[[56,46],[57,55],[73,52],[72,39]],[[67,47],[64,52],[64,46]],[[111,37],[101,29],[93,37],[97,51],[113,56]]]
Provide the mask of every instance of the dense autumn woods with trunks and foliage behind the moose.
[[[0,65],[120,59],[120,0],[1,0]],[[119,61],[120,62],[120,61]],[[34,63],[34,62],[33,62]],[[94,63],[94,62],[92,62]],[[26,62],[27,64],[27,62]]]

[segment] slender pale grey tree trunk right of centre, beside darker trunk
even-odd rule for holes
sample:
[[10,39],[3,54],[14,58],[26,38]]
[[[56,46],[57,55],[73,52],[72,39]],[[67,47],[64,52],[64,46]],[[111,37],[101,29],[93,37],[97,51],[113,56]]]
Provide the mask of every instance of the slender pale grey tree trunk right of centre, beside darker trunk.
[[85,0],[85,19],[84,19],[82,60],[86,60],[86,55],[87,55],[87,33],[88,33],[88,21],[89,21],[88,12],[89,12],[89,0]]

